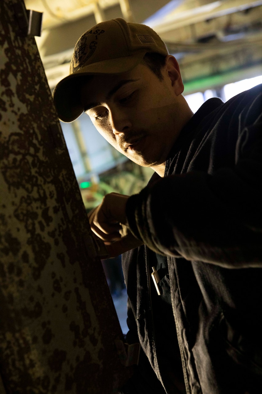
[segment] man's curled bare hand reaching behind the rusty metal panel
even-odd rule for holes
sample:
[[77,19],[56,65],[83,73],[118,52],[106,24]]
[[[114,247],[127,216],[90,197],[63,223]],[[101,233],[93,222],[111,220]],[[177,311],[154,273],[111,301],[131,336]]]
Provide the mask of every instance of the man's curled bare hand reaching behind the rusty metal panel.
[[129,196],[118,193],[107,194],[102,203],[88,214],[91,230],[103,240],[109,257],[143,245],[126,226],[125,207],[128,198]]

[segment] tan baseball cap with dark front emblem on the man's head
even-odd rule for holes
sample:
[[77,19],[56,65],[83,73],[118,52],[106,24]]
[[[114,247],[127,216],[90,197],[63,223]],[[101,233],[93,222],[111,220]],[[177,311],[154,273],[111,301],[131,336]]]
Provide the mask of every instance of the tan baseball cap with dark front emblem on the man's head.
[[79,89],[87,76],[129,71],[147,52],[168,55],[159,35],[146,25],[116,18],[87,30],[76,43],[69,75],[53,91],[59,119],[72,122],[84,111]]

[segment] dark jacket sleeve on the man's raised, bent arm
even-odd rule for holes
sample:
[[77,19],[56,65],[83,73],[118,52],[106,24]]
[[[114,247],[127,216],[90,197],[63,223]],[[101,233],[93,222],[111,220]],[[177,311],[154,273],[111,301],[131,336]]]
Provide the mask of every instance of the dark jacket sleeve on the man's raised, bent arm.
[[231,167],[170,175],[131,196],[131,232],[163,255],[262,267],[261,115],[239,131],[234,154]]

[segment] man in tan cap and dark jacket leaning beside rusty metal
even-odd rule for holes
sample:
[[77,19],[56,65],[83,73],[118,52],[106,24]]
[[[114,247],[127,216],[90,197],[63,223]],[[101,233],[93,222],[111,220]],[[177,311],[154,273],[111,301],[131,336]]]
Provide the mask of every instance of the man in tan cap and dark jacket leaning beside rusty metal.
[[142,351],[122,392],[261,394],[262,88],[194,115],[182,93],[159,36],[122,19],[80,37],[54,90],[62,121],[85,111],[155,170],[138,195],[111,193],[89,217],[111,256],[126,252],[127,342]]

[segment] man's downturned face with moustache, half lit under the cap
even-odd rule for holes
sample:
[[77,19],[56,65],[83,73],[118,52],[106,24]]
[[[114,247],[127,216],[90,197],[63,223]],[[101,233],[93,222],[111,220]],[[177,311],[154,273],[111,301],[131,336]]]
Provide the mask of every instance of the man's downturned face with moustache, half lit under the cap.
[[122,74],[95,75],[81,89],[85,113],[98,132],[144,167],[165,162],[183,127],[182,96],[175,92],[168,72],[163,75],[159,80],[139,64]]

